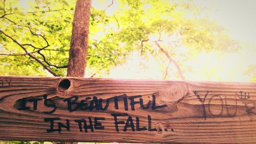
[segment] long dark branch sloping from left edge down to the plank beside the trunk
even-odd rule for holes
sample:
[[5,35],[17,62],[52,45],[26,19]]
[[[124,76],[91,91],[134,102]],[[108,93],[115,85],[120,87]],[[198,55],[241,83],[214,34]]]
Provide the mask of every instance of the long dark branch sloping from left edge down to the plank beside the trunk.
[[10,38],[14,43],[16,43],[17,45],[19,45],[32,59],[34,59],[35,61],[37,61],[39,64],[41,64],[46,70],[48,70],[52,75],[54,76],[59,76],[58,74],[54,73],[49,67],[47,67],[47,65],[45,65],[42,61],[40,61],[39,59],[37,59],[37,57],[35,57],[34,55],[32,55],[31,53],[28,52],[28,50],[19,42],[17,42],[15,39],[13,39],[11,36],[5,34],[3,31],[0,30],[1,33],[3,33],[6,37]]

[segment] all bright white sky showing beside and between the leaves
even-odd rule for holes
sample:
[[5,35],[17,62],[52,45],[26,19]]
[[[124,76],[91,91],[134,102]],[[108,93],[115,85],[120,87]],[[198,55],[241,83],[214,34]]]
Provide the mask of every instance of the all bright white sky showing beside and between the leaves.
[[[109,4],[111,1],[104,4],[93,1],[94,7],[106,9],[106,13],[111,15],[117,9],[118,3],[114,1],[113,6],[106,8]],[[249,65],[256,64],[256,1],[196,0],[194,4],[207,7],[208,9],[204,10],[202,15],[207,15],[209,19],[216,20],[226,27],[231,37],[243,42],[248,48],[235,53],[218,51],[198,53],[181,64],[191,68],[184,72],[186,80],[250,82],[250,76],[243,73]],[[186,51],[186,47],[179,49]],[[170,65],[168,75],[171,80],[179,80],[174,76],[176,72],[174,65]],[[150,59],[143,60],[140,54],[135,52],[126,64],[112,69],[109,78],[163,79],[164,74],[164,69],[159,66],[154,57],[150,56]]]

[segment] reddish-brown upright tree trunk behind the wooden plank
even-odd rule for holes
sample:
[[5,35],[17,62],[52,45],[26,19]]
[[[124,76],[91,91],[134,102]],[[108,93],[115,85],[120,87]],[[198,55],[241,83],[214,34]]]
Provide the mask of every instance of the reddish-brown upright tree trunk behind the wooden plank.
[[83,77],[86,70],[91,0],[77,0],[67,76]]

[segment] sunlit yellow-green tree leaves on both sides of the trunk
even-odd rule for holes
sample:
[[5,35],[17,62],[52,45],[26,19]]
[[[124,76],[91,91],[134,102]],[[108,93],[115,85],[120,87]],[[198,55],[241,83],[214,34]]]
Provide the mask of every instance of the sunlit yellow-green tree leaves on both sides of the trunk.
[[[0,30],[22,44],[32,44],[34,47],[25,45],[30,52],[38,50],[35,47],[47,45],[42,37],[33,35],[30,30],[41,34],[50,46],[41,50],[41,54],[35,52],[33,55],[42,61],[42,55],[45,55],[45,61],[50,65],[68,65],[75,0],[33,2],[5,1],[4,6],[1,0],[0,16],[6,15],[0,18]],[[200,18],[199,9],[187,2],[120,0],[119,3],[111,15],[106,14],[107,8],[91,10],[87,61],[91,75],[108,73],[111,68],[124,63],[135,50],[145,57],[153,54],[156,59],[168,61],[154,43],[158,40],[165,41],[161,46],[173,57],[176,55],[173,50],[179,45],[195,51],[239,47],[236,41],[224,35],[224,28],[207,18]],[[163,35],[168,39],[163,40]],[[25,53],[3,34],[0,34],[0,44],[0,53]],[[0,75],[50,75],[28,55],[0,55],[0,61]],[[45,64],[61,76],[67,73],[66,68]]]

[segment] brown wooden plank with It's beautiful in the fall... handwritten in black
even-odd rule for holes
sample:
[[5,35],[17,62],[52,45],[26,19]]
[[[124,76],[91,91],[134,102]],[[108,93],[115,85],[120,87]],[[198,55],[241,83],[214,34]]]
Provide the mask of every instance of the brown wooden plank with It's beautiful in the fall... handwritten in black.
[[0,139],[256,143],[255,107],[256,83],[0,76]]

